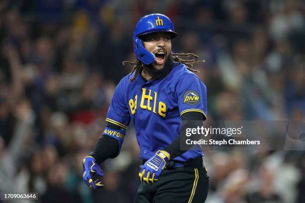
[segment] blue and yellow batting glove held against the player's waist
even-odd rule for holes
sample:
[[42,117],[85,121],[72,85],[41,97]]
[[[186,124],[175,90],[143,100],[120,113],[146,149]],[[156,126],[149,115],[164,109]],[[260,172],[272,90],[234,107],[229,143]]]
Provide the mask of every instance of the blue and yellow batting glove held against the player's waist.
[[145,181],[150,184],[157,181],[169,158],[167,152],[161,150],[157,151],[155,155],[142,166],[139,173],[141,183]]

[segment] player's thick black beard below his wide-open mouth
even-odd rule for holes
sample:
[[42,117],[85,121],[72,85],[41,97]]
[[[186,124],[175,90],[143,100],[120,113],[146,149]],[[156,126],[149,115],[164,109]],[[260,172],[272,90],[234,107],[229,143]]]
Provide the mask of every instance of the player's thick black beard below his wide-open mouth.
[[145,71],[152,76],[153,80],[165,78],[172,70],[172,67],[173,59],[171,53],[167,56],[164,67],[160,70],[155,69],[152,64],[144,65]]

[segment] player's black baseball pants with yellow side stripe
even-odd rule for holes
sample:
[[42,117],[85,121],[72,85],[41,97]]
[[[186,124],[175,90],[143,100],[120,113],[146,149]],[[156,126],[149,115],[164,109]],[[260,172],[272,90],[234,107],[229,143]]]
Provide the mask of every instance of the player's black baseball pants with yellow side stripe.
[[140,185],[135,203],[204,203],[208,185],[204,167],[164,169],[158,181]]

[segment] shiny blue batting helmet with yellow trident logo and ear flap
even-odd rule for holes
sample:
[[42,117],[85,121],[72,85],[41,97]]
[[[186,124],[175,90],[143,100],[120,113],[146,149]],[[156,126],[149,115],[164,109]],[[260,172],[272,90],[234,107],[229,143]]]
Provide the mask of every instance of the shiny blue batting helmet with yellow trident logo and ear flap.
[[146,65],[152,64],[155,56],[144,47],[139,37],[152,32],[170,32],[171,39],[178,36],[166,15],[153,13],[140,18],[134,30],[134,51],[137,58]]

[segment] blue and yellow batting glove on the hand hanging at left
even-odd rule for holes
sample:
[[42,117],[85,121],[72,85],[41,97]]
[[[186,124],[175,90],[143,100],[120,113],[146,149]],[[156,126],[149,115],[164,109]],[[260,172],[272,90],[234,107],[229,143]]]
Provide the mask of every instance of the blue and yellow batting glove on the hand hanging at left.
[[102,181],[99,179],[94,180],[92,178],[94,174],[104,177],[104,173],[95,162],[95,159],[92,156],[87,156],[83,159],[83,179],[90,188],[103,188],[104,184]]

